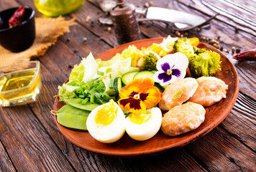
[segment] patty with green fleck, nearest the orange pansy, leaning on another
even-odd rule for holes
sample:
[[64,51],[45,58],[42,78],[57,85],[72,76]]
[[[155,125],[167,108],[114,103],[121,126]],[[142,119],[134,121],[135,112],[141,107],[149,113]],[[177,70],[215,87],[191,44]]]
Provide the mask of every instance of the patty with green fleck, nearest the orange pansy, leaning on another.
[[159,102],[160,109],[170,110],[176,105],[181,105],[193,95],[197,87],[198,83],[192,77],[186,77],[171,83],[163,92],[163,98]]

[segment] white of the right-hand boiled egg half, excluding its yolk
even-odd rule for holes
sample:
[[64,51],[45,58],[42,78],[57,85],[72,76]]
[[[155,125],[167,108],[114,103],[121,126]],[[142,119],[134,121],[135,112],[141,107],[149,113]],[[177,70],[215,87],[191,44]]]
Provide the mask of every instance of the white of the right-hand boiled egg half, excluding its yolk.
[[136,124],[132,123],[128,117],[125,119],[125,130],[134,140],[148,140],[160,130],[162,123],[162,112],[160,108],[151,108],[149,111],[152,115],[145,123]]

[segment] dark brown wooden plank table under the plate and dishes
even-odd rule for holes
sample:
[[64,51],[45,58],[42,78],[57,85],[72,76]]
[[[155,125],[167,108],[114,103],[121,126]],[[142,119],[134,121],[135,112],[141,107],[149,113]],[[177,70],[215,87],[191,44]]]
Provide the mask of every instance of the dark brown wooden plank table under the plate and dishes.
[[[150,1],[129,2],[142,7]],[[1,0],[0,10],[19,5],[35,9],[32,0]],[[66,19],[76,17],[78,24],[70,27],[70,32],[60,37],[44,56],[37,58],[42,67],[42,90],[37,102],[0,108],[0,171],[256,171],[256,62],[232,59],[232,47],[241,51],[255,48],[255,1],[155,0],[152,5],[205,18],[219,13],[211,21],[211,29],[193,29],[181,34],[219,39],[220,46],[229,51],[224,54],[237,69],[240,88],[227,118],[193,143],[144,158],[97,155],[66,140],[50,113],[58,85],[67,79],[81,57],[89,52],[96,56],[118,45],[114,29],[98,22],[104,12],[92,1],[86,1],[81,9],[65,16]],[[36,10],[36,16],[42,14]],[[175,36],[171,29],[157,22],[140,24],[140,30],[143,39]],[[207,42],[203,39],[202,42]]]

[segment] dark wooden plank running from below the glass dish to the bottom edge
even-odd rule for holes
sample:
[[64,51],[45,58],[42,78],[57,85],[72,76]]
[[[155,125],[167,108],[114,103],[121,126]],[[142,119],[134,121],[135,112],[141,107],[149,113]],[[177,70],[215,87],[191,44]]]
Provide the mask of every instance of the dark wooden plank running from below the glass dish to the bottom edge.
[[73,171],[27,105],[0,113],[0,139],[17,171]]

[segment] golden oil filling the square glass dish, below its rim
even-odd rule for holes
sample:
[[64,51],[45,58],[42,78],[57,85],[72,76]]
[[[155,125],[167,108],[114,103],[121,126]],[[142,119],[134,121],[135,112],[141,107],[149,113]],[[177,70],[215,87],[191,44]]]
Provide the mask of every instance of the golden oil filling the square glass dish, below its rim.
[[9,72],[0,78],[0,104],[21,105],[32,102],[39,93],[41,78],[35,69]]

